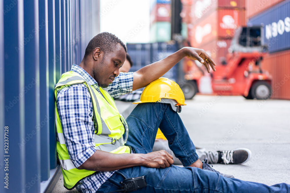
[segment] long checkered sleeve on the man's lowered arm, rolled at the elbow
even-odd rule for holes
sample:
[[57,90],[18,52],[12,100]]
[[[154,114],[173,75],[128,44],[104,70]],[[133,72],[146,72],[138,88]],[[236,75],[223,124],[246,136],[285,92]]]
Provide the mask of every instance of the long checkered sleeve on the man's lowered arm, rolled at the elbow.
[[96,151],[93,106],[88,88],[75,84],[57,92],[57,109],[70,159],[82,165]]

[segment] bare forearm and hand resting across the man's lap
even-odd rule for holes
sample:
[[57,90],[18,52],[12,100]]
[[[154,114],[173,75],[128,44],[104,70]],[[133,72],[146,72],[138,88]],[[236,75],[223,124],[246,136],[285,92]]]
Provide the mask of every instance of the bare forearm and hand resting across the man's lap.
[[77,169],[105,172],[133,166],[165,168],[169,167],[171,164],[173,164],[173,157],[165,150],[150,152],[147,154],[115,154],[96,150],[96,152]]

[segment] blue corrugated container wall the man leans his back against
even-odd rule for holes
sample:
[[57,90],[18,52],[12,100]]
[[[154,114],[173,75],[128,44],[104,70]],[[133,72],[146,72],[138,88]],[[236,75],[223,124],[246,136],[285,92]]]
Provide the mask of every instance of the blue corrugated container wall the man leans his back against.
[[55,83],[99,33],[99,1],[0,0],[0,10],[0,192],[44,192],[57,168]]

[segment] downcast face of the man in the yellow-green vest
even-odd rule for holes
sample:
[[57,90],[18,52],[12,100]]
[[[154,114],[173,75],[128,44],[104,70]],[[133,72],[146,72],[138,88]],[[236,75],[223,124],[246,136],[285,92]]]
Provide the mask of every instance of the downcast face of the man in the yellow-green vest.
[[106,88],[112,84],[125,60],[126,52],[120,44],[116,45],[113,52],[103,52],[93,69],[94,78],[100,87]]

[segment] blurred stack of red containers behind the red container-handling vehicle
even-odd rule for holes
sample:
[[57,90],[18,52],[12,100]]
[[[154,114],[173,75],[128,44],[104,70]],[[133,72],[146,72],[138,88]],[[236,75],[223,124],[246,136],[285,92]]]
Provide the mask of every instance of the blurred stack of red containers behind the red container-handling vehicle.
[[184,0],[182,3],[183,21],[190,22],[187,24],[190,45],[211,55],[217,63],[217,72],[213,74],[216,76],[224,68],[222,64],[236,29],[246,24],[245,1]]

